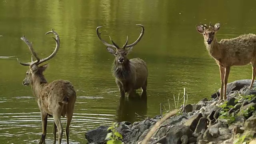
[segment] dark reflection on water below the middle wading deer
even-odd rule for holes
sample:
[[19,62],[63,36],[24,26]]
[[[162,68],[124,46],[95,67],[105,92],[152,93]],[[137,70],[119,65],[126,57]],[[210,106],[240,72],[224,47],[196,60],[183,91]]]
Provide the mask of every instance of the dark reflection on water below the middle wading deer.
[[142,120],[139,118],[137,114],[140,116],[146,117],[147,114],[147,94],[144,92],[141,96],[136,93],[136,96],[133,98],[120,97],[118,109],[116,112],[116,121],[128,121],[128,122],[136,122],[138,120]]

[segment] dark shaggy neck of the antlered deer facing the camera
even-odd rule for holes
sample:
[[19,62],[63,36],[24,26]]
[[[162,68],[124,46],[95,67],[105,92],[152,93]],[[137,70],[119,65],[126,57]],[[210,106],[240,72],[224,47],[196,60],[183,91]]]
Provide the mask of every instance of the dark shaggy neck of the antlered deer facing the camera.
[[120,64],[117,60],[113,62],[112,72],[120,80],[126,80],[130,76],[130,60]]

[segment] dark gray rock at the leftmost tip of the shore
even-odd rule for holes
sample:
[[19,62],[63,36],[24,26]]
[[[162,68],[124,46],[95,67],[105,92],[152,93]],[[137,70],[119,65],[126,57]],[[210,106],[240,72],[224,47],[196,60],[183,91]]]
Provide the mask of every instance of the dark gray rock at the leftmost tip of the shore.
[[89,130],[85,133],[85,138],[88,140],[89,143],[103,143],[105,142],[106,135],[108,134],[107,131],[109,126],[99,126],[94,130]]

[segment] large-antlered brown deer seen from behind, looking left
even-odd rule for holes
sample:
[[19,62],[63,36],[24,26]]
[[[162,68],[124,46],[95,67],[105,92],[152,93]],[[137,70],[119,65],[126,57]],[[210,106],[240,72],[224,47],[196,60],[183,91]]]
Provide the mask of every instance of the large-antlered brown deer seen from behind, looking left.
[[[23,80],[23,85],[31,85],[34,96],[41,111],[42,119],[42,137],[38,144],[45,144],[46,137],[46,125],[47,125],[47,116],[53,116],[54,125],[53,125],[53,136],[54,144],[56,143],[56,128],[58,128],[58,142],[61,143],[63,128],[60,123],[60,117],[66,116],[66,140],[69,144],[69,126],[72,120],[74,105],[76,102],[76,91],[74,90],[73,85],[67,80],[55,80],[51,83],[46,81],[46,78],[43,75],[44,70],[46,70],[48,64],[39,66],[42,62],[46,62],[53,58],[60,48],[60,38],[54,30],[47,32],[46,34],[52,33],[55,35],[54,38],[56,42],[56,48],[54,52],[47,58],[40,59],[34,49],[32,48],[32,43],[28,42],[25,36],[21,37],[32,53],[31,62],[18,62],[23,66],[29,66],[28,71],[26,72],[26,78]],[[36,58],[36,61],[33,61],[33,56]]]

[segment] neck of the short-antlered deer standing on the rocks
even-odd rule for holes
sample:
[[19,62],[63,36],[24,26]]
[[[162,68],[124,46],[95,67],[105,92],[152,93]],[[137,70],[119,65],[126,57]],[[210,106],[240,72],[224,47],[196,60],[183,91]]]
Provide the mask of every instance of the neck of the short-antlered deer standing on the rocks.
[[204,40],[204,44],[205,44],[206,49],[208,50],[210,56],[212,56],[215,59],[220,58],[220,48],[219,48],[219,43],[216,40],[216,38],[214,38],[214,40],[212,41],[211,44],[207,44],[206,40]]

